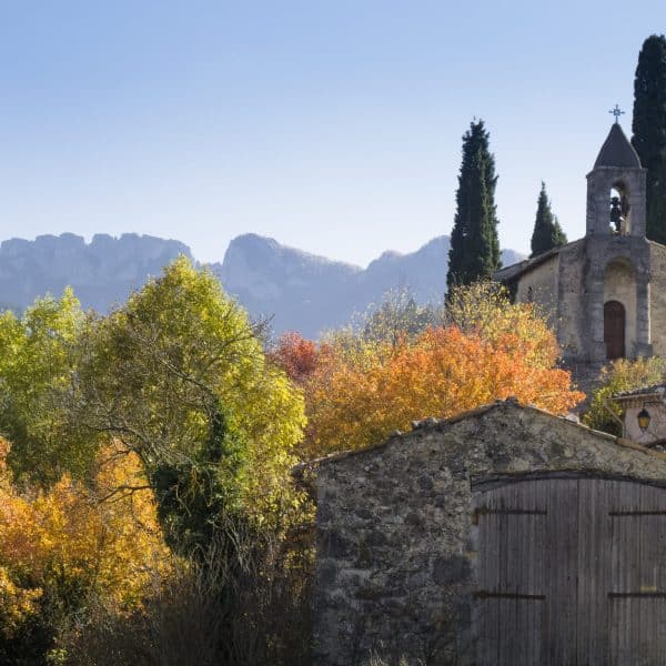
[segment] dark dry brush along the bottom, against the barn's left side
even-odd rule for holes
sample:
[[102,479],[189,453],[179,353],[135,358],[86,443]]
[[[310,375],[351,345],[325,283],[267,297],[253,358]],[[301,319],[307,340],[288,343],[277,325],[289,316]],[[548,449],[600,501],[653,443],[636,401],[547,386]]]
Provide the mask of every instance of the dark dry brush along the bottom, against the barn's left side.
[[155,581],[144,610],[99,607],[65,637],[71,666],[305,666],[311,554],[271,535],[234,534],[200,566]]

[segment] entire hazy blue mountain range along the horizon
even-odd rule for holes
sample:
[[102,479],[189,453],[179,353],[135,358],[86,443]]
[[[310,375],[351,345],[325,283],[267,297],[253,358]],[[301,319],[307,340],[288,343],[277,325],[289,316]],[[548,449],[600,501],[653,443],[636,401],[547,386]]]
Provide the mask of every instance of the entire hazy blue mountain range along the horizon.
[[[438,236],[416,252],[384,252],[362,269],[245,234],[231,241],[222,263],[211,269],[252,315],[271,316],[276,333],[315,336],[347,323],[393,287],[408,287],[420,302],[440,300],[448,243],[448,236]],[[90,243],[71,233],[11,239],[0,245],[0,305],[22,310],[69,284],[84,307],[107,311],[179,254],[192,256],[180,241],[138,234],[97,234]],[[523,259],[512,250],[503,258],[505,265]]]

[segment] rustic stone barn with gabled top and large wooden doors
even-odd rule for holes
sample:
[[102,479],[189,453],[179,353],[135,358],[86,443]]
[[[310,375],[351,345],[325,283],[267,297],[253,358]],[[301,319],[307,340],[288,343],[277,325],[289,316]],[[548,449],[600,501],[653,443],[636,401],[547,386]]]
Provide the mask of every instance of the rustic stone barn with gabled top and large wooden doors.
[[665,483],[512,401],[320,462],[315,664],[666,664]]

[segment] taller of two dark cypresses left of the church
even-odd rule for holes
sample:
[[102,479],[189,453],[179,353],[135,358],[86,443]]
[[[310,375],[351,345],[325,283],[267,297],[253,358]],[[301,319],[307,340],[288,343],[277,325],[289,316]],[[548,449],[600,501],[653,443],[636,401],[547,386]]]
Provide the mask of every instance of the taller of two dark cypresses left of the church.
[[463,137],[463,161],[455,194],[446,285],[491,278],[502,265],[495,206],[495,158],[490,152],[483,120],[472,122]]

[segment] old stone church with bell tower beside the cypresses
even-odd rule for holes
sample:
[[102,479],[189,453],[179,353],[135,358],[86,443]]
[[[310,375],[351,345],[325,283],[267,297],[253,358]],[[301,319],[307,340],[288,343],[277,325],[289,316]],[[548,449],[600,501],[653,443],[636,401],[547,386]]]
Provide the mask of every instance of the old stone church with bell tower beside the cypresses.
[[587,174],[585,238],[494,275],[543,307],[572,369],[666,356],[666,246],[645,235],[645,180],[616,117]]

